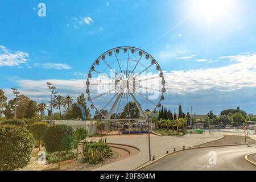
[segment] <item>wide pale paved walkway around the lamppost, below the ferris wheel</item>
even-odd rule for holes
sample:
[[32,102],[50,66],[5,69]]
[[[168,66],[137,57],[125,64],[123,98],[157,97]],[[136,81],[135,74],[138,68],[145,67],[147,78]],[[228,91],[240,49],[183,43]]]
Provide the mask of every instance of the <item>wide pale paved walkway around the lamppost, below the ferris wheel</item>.
[[[188,134],[184,137],[157,137],[151,135],[151,156],[159,158],[166,154],[166,151],[173,151],[174,147],[176,150],[180,150],[183,146],[192,147],[202,143],[210,142],[216,139],[222,138],[222,134]],[[137,155],[131,156],[130,158],[120,160],[118,162],[110,163],[106,166],[94,170],[100,171],[131,171],[135,168],[148,162],[148,137],[147,134],[143,135],[119,135],[106,137],[108,143],[128,144],[130,146],[138,147],[140,152]],[[90,138],[98,139],[98,138]]]

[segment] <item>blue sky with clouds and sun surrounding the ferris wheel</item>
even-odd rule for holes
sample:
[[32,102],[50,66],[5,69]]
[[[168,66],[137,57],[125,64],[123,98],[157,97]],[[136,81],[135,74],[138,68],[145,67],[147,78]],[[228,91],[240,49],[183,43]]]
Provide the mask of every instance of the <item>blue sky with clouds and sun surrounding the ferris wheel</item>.
[[256,114],[256,2],[207,2],[1,1],[0,88],[47,102],[52,81],[76,97],[101,53],[133,46],[165,71],[168,109],[181,102],[197,114],[237,106]]

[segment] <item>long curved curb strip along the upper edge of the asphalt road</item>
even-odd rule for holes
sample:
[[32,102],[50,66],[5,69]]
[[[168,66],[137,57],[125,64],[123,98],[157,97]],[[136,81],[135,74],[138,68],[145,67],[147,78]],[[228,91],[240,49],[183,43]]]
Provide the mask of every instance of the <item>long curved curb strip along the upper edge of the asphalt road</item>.
[[[151,166],[152,164],[158,162],[158,160],[161,160],[169,155],[172,155],[172,154],[176,154],[177,152],[181,152],[181,151],[186,151],[186,150],[193,150],[193,149],[199,149],[199,148],[210,148],[210,147],[230,147],[230,146],[242,146],[242,145],[246,145],[245,143],[241,143],[241,144],[223,144],[223,145],[217,145],[217,146],[202,146],[202,147],[191,147],[191,148],[187,148],[187,149],[184,149],[184,150],[177,150],[175,152],[171,152],[169,154],[165,154],[163,156],[160,156],[160,158],[158,159],[155,159],[154,161],[150,162],[150,163],[147,163],[145,164],[144,166],[142,167],[138,167],[136,169],[134,169],[134,171],[140,171],[141,169],[144,169],[148,166]],[[256,165],[256,164],[255,164]]]

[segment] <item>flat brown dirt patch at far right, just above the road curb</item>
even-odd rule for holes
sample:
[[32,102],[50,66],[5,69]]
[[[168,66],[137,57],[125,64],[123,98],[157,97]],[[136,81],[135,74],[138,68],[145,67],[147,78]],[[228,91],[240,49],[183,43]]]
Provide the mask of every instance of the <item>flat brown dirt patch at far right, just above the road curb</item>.
[[[242,143],[245,143],[245,137],[243,137],[243,136],[224,135],[224,138],[222,138],[220,140],[215,140],[212,142],[200,144],[199,146],[196,146],[196,147],[217,146],[217,145],[222,145],[222,144],[242,144]],[[254,143],[256,143],[256,140],[251,139],[250,137],[247,138],[247,136],[246,136],[246,143],[254,144]]]

